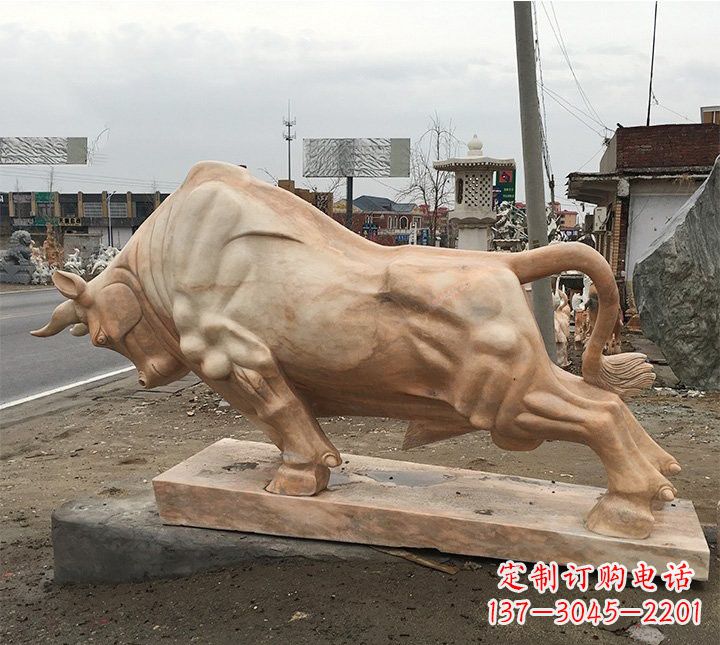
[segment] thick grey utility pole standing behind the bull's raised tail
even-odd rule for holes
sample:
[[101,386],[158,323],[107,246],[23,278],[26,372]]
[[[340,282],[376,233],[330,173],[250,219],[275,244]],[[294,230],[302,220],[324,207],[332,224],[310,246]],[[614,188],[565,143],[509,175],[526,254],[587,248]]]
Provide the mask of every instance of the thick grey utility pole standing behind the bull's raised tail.
[[[522,130],[523,170],[529,247],[547,246],[545,188],[542,162],[542,123],[537,96],[535,46],[530,2],[514,2],[515,47],[520,92],[520,126]],[[550,358],[555,361],[555,324],[549,277],[533,282],[533,312]]]

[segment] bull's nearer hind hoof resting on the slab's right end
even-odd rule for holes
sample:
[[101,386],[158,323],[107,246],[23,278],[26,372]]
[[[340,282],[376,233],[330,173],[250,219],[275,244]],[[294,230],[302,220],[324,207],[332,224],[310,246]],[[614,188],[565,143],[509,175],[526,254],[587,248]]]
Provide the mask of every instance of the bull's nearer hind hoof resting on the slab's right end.
[[653,524],[648,500],[620,493],[603,495],[585,518],[589,530],[610,537],[646,538]]

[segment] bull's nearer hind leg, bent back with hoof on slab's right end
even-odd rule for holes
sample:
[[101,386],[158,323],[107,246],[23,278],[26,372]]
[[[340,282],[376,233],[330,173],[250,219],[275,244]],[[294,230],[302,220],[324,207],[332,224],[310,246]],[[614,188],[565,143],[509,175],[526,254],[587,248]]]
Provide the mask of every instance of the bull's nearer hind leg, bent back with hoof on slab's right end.
[[[605,398],[605,397],[603,397]],[[608,492],[586,518],[587,527],[614,537],[644,538],[654,524],[652,507],[670,501],[675,490],[638,449],[625,418],[625,405],[613,397],[577,396],[554,379],[522,396],[521,405],[501,411],[493,435],[588,445],[608,475]]]

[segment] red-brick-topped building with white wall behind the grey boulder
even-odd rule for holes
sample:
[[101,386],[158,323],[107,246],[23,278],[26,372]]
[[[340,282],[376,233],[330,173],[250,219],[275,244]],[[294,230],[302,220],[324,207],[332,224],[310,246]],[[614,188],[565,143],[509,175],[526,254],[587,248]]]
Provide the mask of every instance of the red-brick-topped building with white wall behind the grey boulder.
[[618,283],[632,278],[635,263],[719,154],[715,123],[618,128],[599,172],[568,175],[568,197],[598,206],[592,218],[598,250]]

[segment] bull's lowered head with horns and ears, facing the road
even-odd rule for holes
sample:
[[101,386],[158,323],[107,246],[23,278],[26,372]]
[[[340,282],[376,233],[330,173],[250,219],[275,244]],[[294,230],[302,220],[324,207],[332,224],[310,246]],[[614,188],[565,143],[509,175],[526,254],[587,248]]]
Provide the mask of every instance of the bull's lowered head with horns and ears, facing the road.
[[93,345],[112,349],[130,359],[143,387],[166,385],[188,373],[158,340],[143,316],[133,289],[112,268],[92,282],[66,271],[56,271],[53,282],[68,300],[53,311],[50,322],[33,336],[53,336],[72,325],[74,336],[90,334]]

